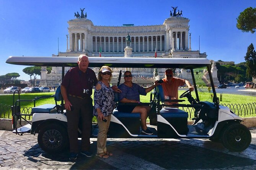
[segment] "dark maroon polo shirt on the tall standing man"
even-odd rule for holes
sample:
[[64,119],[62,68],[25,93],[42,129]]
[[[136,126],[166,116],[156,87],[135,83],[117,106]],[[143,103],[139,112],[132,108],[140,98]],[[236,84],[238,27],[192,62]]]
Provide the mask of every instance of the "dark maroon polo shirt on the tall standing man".
[[[67,71],[61,85],[66,88],[67,94],[89,97],[97,82],[97,77],[92,69],[87,68],[86,72],[82,72],[77,66]],[[83,93],[83,89],[89,89],[89,93]]]

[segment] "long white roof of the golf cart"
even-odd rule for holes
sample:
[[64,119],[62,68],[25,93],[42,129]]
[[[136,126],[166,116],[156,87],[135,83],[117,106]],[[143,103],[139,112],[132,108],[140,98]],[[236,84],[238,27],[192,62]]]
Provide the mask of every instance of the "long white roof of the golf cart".
[[[23,66],[77,66],[78,57],[36,57],[10,56],[6,63]],[[124,57],[89,57],[89,67],[135,67],[135,68],[199,68],[210,65],[206,58],[124,58]]]

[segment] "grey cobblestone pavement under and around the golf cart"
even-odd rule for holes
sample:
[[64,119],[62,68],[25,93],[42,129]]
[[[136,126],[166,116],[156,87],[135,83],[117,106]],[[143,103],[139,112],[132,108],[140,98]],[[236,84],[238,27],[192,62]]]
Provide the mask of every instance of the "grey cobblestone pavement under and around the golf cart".
[[[222,144],[198,139],[108,139],[108,159],[79,155],[70,162],[68,152],[48,154],[39,148],[37,135],[15,135],[0,131],[2,169],[173,169],[256,170],[256,128],[252,142],[243,152],[229,152]],[[96,138],[91,138],[96,153]]]

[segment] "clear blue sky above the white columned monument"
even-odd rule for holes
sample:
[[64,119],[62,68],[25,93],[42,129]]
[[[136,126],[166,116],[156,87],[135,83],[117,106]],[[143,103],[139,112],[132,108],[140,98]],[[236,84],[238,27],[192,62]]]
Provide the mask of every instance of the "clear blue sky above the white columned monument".
[[256,0],[0,0],[0,75],[22,72],[26,66],[6,64],[8,56],[52,56],[66,50],[67,21],[85,8],[96,26],[163,24],[171,6],[178,6],[190,19],[191,48],[207,53],[208,59],[244,62],[247,47],[256,48],[256,33],[236,28],[240,12]]

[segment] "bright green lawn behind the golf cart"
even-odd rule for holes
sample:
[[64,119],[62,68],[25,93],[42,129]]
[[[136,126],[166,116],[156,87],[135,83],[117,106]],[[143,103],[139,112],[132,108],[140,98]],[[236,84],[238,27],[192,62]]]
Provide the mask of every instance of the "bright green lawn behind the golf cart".
[[[184,88],[184,90],[179,90],[179,95],[181,95],[184,91],[186,91],[186,88]],[[46,95],[51,96],[53,94],[54,94],[54,92],[21,94],[20,99],[28,100],[28,99],[34,99],[34,98],[40,97],[40,96],[46,96]],[[198,95],[199,95],[200,101],[212,102],[212,93],[199,92]],[[16,96],[15,97],[15,101],[16,101],[18,99],[18,95],[15,95],[15,96]],[[192,92],[192,96],[194,98],[196,98],[196,95],[194,92]],[[220,97],[220,94],[217,94],[217,96]],[[147,93],[147,96],[140,96],[141,102],[148,103],[149,100],[150,100],[150,93]],[[234,104],[248,104],[248,103],[253,103],[254,101],[256,101],[256,97],[254,97],[254,96],[222,94],[222,101],[220,101],[220,104],[233,104],[233,105]],[[36,106],[39,106],[42,104],[55,104],[54,98],[39,99],[38,101],[36,101]],[[58,102],[58,104],[60,104],[60,102]],[[185,102],[183,102],[183,104],[189,104],[189,102],[186,100]],[[7,106],[5,106],[5,105],[7,105]],[[13,95],[0,96],[0,117],[1,118],[10,118],[10,115],[11,115],[10,106],[12,106],[12,105],[13,105]],[[21,107],[27,107],[27,108],[34,107],[34,103],[33,102],[22,102]],[[246,111],[248,110],[246,108],[243,108],[243,109]],[[254,110],[255,110],[255,108],[254,108]],[[25,112],[27,112],[27,113],[29,113],[30,111],[31,111],[31,109],[29,109],[29,111],[25,110]],[[236,112],[235,109],[233,111]],[[3,112],[5,112],[5,115]],[[244,111],[238,111],[238,112],[244,112]],[[246,114],[244,116],[243,116],[243,114],[241,114],[241,115],[242,115],[242,117],[255,116],[255,111],[251,111],[251,113],[249,113],[249,115],[246,115]]]

